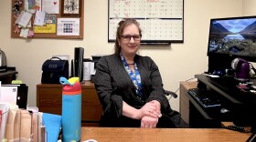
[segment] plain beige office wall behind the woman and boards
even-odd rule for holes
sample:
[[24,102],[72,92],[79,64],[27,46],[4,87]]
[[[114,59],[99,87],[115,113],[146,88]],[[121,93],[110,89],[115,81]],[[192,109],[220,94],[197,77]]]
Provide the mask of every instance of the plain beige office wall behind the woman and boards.
[[[179,81],[201,74],[208,69],[207,45],[209,19],[217,17],[252,15],[254,0],[185,0],[184,43],[171,46],[142,46],[140,54],[151,56],[159,66],[165,89],[176,91]],[[248,3],[247,3],[248,2]],[[249,4],[250,3],[250,4]],[[85,57],[95,54],[112,54],[113,44],[107,42],[108,1],[85,0],[84,39],[14,39],[11,38],[11,0],[0,5],[0,47],[5,51],[8,66],[16,66],[17,79],[29,86],[28,105],[36,106],[37,84],[40,83],[41,66],[53,55],[69,55],[74,47],[85,48]],[[244,10],[245,11],[245,10]],[[255,11],[255,10],[254,10]],[[255,12],[254,12],[255,14]],[[178,110],[179,99],[171,99]]]

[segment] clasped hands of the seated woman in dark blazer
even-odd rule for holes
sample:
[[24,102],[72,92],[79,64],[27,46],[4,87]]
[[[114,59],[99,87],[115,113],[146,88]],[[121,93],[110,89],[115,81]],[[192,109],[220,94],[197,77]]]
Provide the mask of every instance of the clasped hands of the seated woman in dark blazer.
[[153,128],[156,127],[161,114],[161,104],[156,101],[146,103],[141,109],[141,127]]

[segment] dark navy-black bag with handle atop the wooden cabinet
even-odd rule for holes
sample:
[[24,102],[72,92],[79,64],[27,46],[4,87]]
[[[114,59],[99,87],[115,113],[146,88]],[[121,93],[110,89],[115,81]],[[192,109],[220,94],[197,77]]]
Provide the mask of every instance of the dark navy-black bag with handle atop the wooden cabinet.
[[[54,58],[58,60],[53,60]],[[69,78],[69,61],[52,57],[44,62],[42,71],[42,84],[59,84],[59,77]]]

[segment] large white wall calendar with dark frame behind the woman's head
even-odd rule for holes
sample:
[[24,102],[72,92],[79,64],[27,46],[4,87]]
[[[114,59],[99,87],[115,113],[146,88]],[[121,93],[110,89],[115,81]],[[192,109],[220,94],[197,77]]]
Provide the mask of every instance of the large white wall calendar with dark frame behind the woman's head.
[[123,18],[136,19],[142,43],[184,42],[184,0],[109,0],[108,41]]

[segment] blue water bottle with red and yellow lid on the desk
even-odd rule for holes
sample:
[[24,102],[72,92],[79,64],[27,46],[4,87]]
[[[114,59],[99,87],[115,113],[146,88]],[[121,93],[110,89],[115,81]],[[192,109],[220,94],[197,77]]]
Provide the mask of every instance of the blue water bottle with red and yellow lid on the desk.
[[62,89],[62,141],[80,141],[81,127],[81,86],[78,77],[67,80],[60,77],[65,85]]

